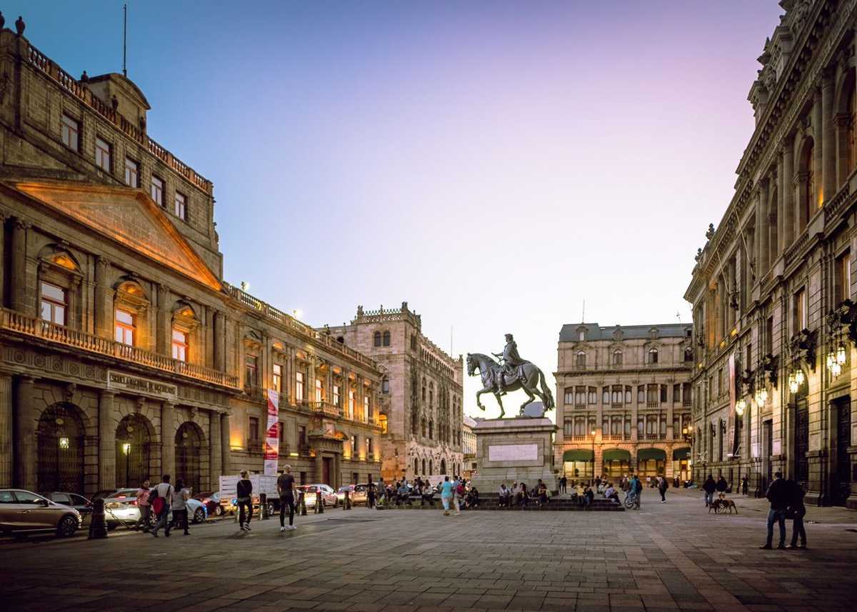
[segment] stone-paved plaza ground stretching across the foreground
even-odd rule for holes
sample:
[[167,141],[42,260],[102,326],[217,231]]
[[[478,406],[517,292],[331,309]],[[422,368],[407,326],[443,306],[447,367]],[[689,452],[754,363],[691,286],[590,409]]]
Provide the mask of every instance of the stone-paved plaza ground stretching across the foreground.
[[[810,508],[810,549],[759,550],[763,501],[697,492],[625,513],[356,509],[192,535],[0,544],[3,610],[854,610],[857,513]],[[789,525],[790,527],[790,525]]]

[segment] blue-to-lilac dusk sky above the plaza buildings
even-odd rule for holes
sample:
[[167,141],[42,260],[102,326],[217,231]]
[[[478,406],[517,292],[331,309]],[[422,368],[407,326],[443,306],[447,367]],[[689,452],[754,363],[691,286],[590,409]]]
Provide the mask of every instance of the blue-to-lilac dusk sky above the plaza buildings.
[[[564,323],[690,321],[734,193],[775,0],[129,0],[129,78],[214,183],[225,280],[314,326],[505,333],[548,377]],[[73,75],[121,72],[123,2],[3,0]],[[478,378],[464,411],[499,415]],[[506,396],[506,414],[524,393]]]

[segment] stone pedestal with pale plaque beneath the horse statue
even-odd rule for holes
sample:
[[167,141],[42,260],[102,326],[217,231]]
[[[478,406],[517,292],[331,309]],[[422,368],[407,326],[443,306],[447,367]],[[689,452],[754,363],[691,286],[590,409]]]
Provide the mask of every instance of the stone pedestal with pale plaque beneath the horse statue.
[[476,471],[471,478],[481,494],[494,494],[505,483],[535,487],[541,478],[558,489],[554,474],[553,435],[548,418],[494,418],[477,421]]

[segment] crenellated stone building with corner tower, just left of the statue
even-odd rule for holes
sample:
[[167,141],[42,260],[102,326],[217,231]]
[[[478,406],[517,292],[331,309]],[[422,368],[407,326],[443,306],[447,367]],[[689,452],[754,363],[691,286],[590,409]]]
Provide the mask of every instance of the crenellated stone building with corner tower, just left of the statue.
[[400,309],[363,310],[350,325],[329,333],[375,359],[381,378],[381,476],[385,480],[462,470],[462,378],[464,362],[453,359],[422,332],[420,315]]

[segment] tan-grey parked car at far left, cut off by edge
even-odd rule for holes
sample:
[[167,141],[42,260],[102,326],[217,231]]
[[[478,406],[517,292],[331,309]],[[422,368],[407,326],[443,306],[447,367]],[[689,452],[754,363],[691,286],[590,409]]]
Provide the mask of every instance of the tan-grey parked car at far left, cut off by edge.
[[22,489],[0,489],[0,531],[55,531],[70,537],[81,527],[81,513],[47,497]]

